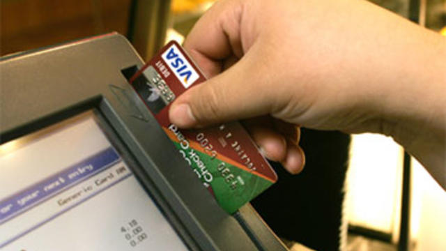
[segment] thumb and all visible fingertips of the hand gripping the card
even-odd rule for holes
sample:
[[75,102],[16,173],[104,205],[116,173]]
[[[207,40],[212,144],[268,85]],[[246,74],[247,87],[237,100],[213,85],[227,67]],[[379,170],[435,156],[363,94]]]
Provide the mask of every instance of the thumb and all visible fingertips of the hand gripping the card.
[[[275,89],[271,90],[271,83],[259,74],[263,71],[256,66],[255,57],[249,56],[256,54],[253,39],[242,45],[242,15],[241,1],[217,2],[187,36],[185,49],[210,80],[175,100],[169,110],[172,123],[181,128],[203,127],[272,111]],[[297,174],[305,165],[305,155],[298,146],[300,130],[289,123],[269,121],[248,123],[250,134],[267,158],[282,162],[289,172]]]

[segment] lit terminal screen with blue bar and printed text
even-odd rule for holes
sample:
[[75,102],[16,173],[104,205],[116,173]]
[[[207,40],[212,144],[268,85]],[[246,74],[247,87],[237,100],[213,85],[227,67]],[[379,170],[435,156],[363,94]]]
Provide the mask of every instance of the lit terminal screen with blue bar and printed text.
[[86,112],[0,146],[0,250],[187,250]]

